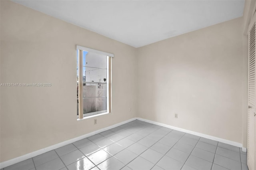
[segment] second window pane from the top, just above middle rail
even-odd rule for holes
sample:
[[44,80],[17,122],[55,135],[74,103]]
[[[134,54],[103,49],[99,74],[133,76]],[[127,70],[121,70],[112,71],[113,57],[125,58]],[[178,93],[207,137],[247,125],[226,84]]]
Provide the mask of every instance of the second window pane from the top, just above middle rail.
[[83,67],[83,75],[84,75],[83,81],[106,82],[107,69]]

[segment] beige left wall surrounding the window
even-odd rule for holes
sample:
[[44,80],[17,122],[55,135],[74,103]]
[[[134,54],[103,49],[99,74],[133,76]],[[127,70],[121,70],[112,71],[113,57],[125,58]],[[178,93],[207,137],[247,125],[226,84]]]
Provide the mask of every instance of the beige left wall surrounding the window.
[[[136,117],[136,49],[78,26],[0,1],[0,162]],[[76,45],[113,53],[112,113],[76,120]],[[129,112],[129,107],[132,111]]]

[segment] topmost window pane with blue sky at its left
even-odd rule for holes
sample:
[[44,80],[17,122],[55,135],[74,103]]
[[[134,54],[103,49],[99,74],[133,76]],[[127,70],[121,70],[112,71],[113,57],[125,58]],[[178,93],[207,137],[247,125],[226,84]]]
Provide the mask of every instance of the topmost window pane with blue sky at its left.
[[83,51],[83,53],[86,52],[86,57],[83,58],[83,66],[88,67],[100,67],[100,68],[107,68],[107,56],[97,53],[88,53],[87,51]]

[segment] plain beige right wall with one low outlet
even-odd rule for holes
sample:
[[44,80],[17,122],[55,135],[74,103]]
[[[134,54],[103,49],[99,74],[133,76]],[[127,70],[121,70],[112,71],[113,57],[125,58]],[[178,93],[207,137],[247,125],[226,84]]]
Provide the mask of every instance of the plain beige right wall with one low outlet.
[[138,117],[242,143],[241,24],[140,47]]

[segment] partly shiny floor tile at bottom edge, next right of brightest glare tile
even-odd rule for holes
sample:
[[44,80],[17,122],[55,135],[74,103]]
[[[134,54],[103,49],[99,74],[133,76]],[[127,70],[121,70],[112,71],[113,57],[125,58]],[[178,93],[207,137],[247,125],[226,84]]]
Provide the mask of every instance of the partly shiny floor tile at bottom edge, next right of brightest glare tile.
[[125,165],[114,157],[111,157],[98,165],[101,170],[120,170]]

